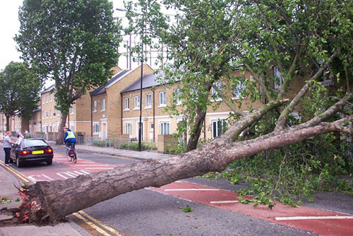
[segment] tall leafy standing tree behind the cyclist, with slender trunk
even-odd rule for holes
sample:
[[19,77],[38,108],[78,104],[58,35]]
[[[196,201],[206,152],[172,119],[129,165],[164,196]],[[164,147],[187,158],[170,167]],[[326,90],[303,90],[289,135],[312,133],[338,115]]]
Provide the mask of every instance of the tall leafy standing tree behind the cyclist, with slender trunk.
[[121,35],[112,2],[25,0],[19,19],[18,50],[43,79],[54,79],[61,130],[75,100],[105,83],[117,63]]

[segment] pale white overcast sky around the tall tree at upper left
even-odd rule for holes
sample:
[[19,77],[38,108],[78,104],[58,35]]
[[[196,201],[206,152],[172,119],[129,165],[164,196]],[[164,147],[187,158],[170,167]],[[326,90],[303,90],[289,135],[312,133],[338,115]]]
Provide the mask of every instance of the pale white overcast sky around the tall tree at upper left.
[[[18,21],[18,8],[22,6],[22,2],[23,0],[2,0],[0,4],[0,70],[5,69],[11,61],[21,61],[20,53],[16,49],[16,42],[13,40],[13,37],[18,33],[20,27]],[[122,0],[112,0],[112,2],[114,9],[124,8]],[[124,12],[114,11],[114,16],[119,18],[124,17]],[[136,43],[138,42],[138,40],[135,41]],[[124,52],[126,49],[123,48],[124,47],[119,49],[119,51]],[[119,66],[121,69],[126,69],[126,67],[128,67],[125,57],[119,59]],[[133,65],[132,68],[134,66],[137,65]]]

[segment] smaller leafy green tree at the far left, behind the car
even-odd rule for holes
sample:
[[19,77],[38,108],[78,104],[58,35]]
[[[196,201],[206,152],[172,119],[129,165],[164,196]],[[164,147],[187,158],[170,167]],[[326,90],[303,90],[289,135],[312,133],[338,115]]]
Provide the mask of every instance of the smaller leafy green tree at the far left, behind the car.
[[[11,61],[0,72],[0,111],[6,117],[6,130],[10,130],[9,119],[19,115],[30,119],[40,99],[42,83],[28,64]],[[22,127],[28,129],[28,127]]]

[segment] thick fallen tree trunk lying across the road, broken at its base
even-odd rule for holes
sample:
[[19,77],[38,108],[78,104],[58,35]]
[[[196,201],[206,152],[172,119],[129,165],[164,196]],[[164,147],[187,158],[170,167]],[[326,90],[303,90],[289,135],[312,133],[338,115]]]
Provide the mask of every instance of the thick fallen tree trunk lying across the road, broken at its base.
[[106,172],[80,175],[75,179],[37,182],[25,188],[24,194],[28,199],[24,200],[17,216],[31,223],[55,223],[71,213],[114,196],[144,187],[160,187],[178,179],[204,175],[211,171],[222,171],[233,160],[270,148],[297,143],[329,131],[347,131],[353,134],[352,127],[342,126],[344,122],[352,122],[352,119],[353,116],[344,121],[341,119],[303,129],[301,126],[294,126],[242,142],[232,142],[229,136],[221,136],[205,143],[201,148],[174,158],[147,160]]

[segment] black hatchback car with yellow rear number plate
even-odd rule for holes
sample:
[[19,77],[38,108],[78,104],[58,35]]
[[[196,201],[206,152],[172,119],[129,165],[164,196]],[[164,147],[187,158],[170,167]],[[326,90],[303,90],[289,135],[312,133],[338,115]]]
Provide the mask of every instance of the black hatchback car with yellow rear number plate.
[[53,163],[54,151],[42,138],[20,139],[11,148],[11,159],[17,167],[25,163]]

